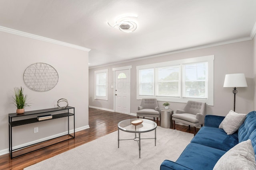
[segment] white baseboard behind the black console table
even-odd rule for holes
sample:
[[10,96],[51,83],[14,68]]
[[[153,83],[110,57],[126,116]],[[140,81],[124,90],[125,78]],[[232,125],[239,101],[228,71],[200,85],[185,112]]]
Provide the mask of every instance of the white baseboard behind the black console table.
[[[79,128],[75,129],[75,132],[82,131],[82,130],[88,129],[88,128],[90,128],[89,125],[86,125],[86,126],[83,126],[83,127],[79,127]],[[69,133],[74,133],[74,129],[69,130]],[[31,142],[28,142],[28,143],[24,143],[24,144],[12,147],[12,149],[18,149],[18,148],[21,148],[21,147],[26,147],[28,145],[33,145],[35,143],[46,141],[48,139],[53,139],[55,137],[59,137],[59,136],[66,135],[66,134],[68,134],[68,131],[62,132],[62,133],[59,133],[59,134],[56,134],[56,135],[52,135],[52,136],[49,136],[49,137],[45,137],[45,138],[42,138],[42,139],[38,139],[36,141],[31,141]],[[0,155],[8,154],[8,153],[9,153],[9,149],[0,150]]]

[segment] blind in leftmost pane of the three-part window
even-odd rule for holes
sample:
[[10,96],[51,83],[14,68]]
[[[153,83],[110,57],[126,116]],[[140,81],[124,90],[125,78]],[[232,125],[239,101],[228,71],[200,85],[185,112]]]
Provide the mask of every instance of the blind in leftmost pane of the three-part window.
[[154,68],[139,70],[139,95],[154,96]]

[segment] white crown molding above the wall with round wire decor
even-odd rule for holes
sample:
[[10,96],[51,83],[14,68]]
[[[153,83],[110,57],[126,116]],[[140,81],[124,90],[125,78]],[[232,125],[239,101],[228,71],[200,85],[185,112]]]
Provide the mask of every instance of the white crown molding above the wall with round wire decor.
[[45,41],[45,42],[48,42],[48,43],[58,44],[58,45],[62,45],[62,46],[65,46],[65,47],[71,47],[71,48],[79,49],[79,50],[82,50],[82,51],[88,51],[89,52],[91,50],[91,49],[81,47],[81,46],[78,46],[78,45],[73,45],[73,44],[65,43],[65,42],[62,42],[62,41],[55,40],[55,39],[41,37],[39,35],[34,35],[34,34],[22,32],[22,31],[18,31],[18,30],[15,30],[15,29],[7,28],[7,27],[0,26],[0,31],[15,34],[15,35],[20,35],[20,36],[28,37],[28,38],[32,38],[32,39],[37,39],[37,40]]

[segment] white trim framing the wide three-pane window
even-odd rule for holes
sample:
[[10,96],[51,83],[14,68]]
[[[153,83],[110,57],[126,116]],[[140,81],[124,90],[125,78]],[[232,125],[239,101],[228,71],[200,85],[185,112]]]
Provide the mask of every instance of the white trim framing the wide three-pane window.
[[[183,98],[183,64],[188,63],[199,63],[199,62],[208,62],[208,98],[207,99],[198,99],[198,98]],[[173,98],[173,97],[160,97],[156,96],[156,89],[154,88],[154,96],[140,96],[139,95],[139,88],[140,88],[140,76],[139,72],[141,69],[147,68],[154,68],[154,84],[156,83],[155,74],[157,67],[164,67],[164,66],[174,66],[180,64],[180,98]],[[214,55],[208,55],[203,57],[194,57],[188,59],[181,59],[181,60],[174,60],[174,61],[166,61],[162,63],[154,63],[154,64],[146,64],[141,66],[136,66],[136,74],[137,74],[137,92],[136,98],[137,100],[141,100],[142,98],[156,98],[158,101],[164,102],[179,102],[179,103],[187,103],[188,100],[194,100],[198,102],[206,102],[208,106],[214,106]],[[156,87],[156,85],[155,85]]]

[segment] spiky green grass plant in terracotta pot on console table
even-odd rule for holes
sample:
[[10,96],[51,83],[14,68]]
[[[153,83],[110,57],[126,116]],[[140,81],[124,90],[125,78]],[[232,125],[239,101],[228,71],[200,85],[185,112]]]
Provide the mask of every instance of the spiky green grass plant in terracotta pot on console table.
[[24,113],[24,107],[29,106],[28,103],[26,103],[27,95],[23,94],[22,87],[14,88],[14,96],[12,96],[13,104],[17,107],[16,113],[21,114]]

